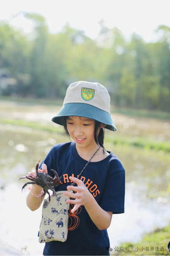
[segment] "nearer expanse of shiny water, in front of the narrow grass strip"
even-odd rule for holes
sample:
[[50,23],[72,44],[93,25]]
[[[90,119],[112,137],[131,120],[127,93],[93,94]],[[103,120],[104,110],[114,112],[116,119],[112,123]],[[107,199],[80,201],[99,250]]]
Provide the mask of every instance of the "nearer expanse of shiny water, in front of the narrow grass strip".
[[[0,240],[18,254],[42,256],[44,244],[38,242],[41,208],[32,212],[26,206],[28,186],[19,178],[34,168],[55,143],[68,141],[65,136],[50,136],[0,130]],[[145,232],[163,227],[170,220],[170,198],[165,191],[170,180],[170,158],[163,152],[106,145],[121,159],[126,170],[125,213],[115,214],[108,229],[110,246],[137,242]],[[159,246],[159,245],[158,245]],[[1,247],[0,247],[1,248]],[[2,254],[3,255],[3,254]],[[4,254],[6,255],[6,254]],[[15,255],[8,253],[7,255]]]

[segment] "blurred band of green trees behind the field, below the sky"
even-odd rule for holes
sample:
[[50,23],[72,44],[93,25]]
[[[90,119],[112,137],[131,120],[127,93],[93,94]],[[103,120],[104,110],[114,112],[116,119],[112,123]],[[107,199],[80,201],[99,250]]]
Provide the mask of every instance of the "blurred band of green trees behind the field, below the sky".
[[32,38],[0,23],[0,95],[61,98],[75,81],[103,84],[117,107],[170,111],[170,28],[160,25],[158,42],[133,34],[127,42],[118,28],[100,21],[95,40],[66,24],[51,34],[45,18],[34,22]]

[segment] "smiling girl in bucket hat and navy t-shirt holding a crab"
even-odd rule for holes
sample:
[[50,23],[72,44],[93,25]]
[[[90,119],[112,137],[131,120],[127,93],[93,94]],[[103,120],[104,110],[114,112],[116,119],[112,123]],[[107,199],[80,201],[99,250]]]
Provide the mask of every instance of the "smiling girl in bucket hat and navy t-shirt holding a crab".
[[[48,172],[53,178],[50,170],[57,171],[60,186],[55,187],[55,191],[66,191],[64,194],[70,197],[67,202],[72,210],[66,241],[46,242],[43,255],[109,256],[107,228],[112,214],[124,213],[125,169],[118,157],[104,148],[104,128],[117,130],[110,115],[107,89],[100,83],[72,83],[66,91],[63,107],[52,121],[63,125],[73,141],[54,145],[39,171]],[[89,159],[91,161],[77,178]],[[34,170],[28,174],[36,177]],[[76,186],[70,186],[72,182]],[[43,202],[44,196],[33,196],[41,190],[32,185],[32,192],[27,196],[27,206],[33,211]]]

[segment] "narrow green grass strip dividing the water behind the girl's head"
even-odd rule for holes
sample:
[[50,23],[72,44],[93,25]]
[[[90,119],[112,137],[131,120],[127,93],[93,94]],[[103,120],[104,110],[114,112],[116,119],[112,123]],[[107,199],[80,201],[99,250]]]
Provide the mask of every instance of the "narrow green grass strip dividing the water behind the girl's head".
[[[34,130],[48,131],[50,133],[65,134],[63,127],[54,127],[53,125],[42,125],[38,122],[29,122],[21,119],[2,119],[0,121],[3,125],[13,125],[20,127],[30,127]],[[158,141],[149,141],[145,138],[140,137],[120,137],[113,136],[112,134],[105,135],[105,142],[112,143],[113,145],[123,145],[123,146],[134,146],[136,148],[144,148],[145,150],[156,150],[163,152],[170,152],[170,142],[158,142]]]

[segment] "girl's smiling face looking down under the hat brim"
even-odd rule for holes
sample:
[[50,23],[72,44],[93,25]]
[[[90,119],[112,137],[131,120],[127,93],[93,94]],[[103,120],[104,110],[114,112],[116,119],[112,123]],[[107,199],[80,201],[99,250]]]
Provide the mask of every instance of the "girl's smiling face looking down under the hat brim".
[[96,145],[94,139],[95,120],[84,117],[79,118],[79,116],[69,116],[67,118],[67,129],[77,146],[91,148]]

